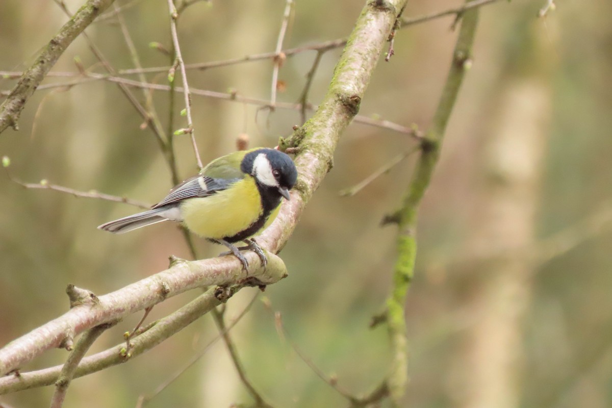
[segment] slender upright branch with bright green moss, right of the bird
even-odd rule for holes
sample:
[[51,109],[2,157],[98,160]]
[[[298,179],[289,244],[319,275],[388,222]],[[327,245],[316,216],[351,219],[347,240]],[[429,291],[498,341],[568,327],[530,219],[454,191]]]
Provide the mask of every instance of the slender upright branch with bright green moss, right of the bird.
[[390,372],[387,376],[387,385],[395,404],[400,404],[400,399],[405,393],[408,382],[405,303],[406,292],[412,281],[412,276],[414,276],[417,250],[417,212],[430,184],[431,174],[436,168],[446,125],[455,105],[463,76],[471,62],[471,48],[477,21],[477,9],[465,12],[457,45],[455,45],[455,51],[453,51],[449,76],[446,84],[444,84],[444,89],[442,89],[431,128],[422,139],[421,154],[416,169],[406,188],[406,195],[400,209],[388,217],[389,220],[394,220],[398,224],[398,258],[394,268],[392,291],[386,302],[386,322],[393,355]]

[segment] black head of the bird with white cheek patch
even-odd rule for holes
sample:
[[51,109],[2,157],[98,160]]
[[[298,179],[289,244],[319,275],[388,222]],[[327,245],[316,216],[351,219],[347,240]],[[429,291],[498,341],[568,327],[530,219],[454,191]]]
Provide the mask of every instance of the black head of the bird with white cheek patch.
[[289,190],[297,180],[296,165],[291,157],[275,149],[256,149],[242,159],[243,172],[255,177],[264,187],[277,188],[278,193],[289,199]]

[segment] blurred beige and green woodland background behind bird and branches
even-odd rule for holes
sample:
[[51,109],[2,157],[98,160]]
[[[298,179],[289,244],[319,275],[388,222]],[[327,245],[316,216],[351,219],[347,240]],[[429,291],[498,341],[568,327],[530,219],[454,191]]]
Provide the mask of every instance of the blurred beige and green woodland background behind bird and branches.
[[[120,1],[144,67],[169,64],[149,46],[170,48],[165,0]],[[434,4],[435,3],[435,4]],[[416,278],[408,294],[409,377],[405,406],[612,406],[612,3],[560,1],[545,18],[546,1],[515,0],[482,8],[474,65],[447,128],[441,162],[420,211]],[[75,11],[82,1],[66,0]],[[460,6],[413,0],[405,17]],[[284,48],[347,36],[362,1],[297,0]],[[187,64],[274,51],[285,2],[196,2],[179,18]],[[113,7],[108,12],[112,12]],[[67,21],[50,0],[0,2],[0,70],[28,67]],[[395,56],[376,68],[360,114],[427,129],[449,69],[453,17],[398,32]],[[116,69],[133,67],[110,15],[87,30]],[[341,50],[323,55],[310,89],[320,102]],[[290,56],[280,69],[279,102],[295,103],[316,53]],[[55,72],[103,72],[82,37]],[[147,74],[166,84],[167,72]],[[270,98],[272,61],[190,70],[190,86]],[[126,78],[137,79],[133,75]],[[177,79],[179,76],[177,75]],[[43,84],[70,78],[48,78]],[[0,91],[15,80],[0,80]],[[133,89],[138,98],[143,94]],[[163,128],[170,97],[153,95]],[[176,95],[174,129],[184,127]],[[193,97],[194,125],[204,162],[236,149],[275,146],[300,125],[298,111]],[[116,84],[87,81],[41,89],[26,105],[18,132],[0,135],[13,177],[47,179],[76,190],[95,189],[157,202],[171,187],[168,166],[150,130]],[[175,139],[180,177],[196,171],[187,136]],[[275,407],[346,406],[334,389],[279,335],[324,373],[359,395],[375,387],[390,361],[384,327],[370,330],[390,289],[395,229],[379,222],[400,203],[414,158],[351,197],[349,188],[413,146],[409,136],[352,124],[335,166],[308,204],[282,252],[289,277],[268,287],[231,332],[253,384]],[[137,209],[46,190],[26,190],[0,174],[0,344],[68,308],[68,283],[105,294],[163,270],[168,256],[188,258],[173,224],[122,236],[95,227]],[[197,242],[201,257],[223,248]],[[158,319],[193,299],[188,292],[156,306]],[[228,302],[231,321],[256,294]],[[270,306],[266,306],[269,304]],[[122,341],[140,319],[108,330],[92,352]],[[129,363],[77,379],[65,407],[133,407],[217,336],[200,320]],[[63,363],[53,350],[28,369]],[[0,397],[12,407],[48,404],[53,387]],[[91,398],[95,395],[95,399]],[[220,341],[147,407],[228,407],[252,400]],[[384,402],[382,406],[388,406]]]

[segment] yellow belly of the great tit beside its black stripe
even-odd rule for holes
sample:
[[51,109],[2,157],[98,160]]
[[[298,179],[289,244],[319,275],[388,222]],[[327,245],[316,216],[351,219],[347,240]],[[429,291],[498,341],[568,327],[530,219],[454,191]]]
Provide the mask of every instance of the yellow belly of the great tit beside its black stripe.
[[[255,180],[248,176],[228,190],[208,197],[190,198],[181,204],[185,226],[201,237],[212,239],[231,237],[244,231],[258,220],[262,212]],[[276,213],[277,210],[274,217]]]

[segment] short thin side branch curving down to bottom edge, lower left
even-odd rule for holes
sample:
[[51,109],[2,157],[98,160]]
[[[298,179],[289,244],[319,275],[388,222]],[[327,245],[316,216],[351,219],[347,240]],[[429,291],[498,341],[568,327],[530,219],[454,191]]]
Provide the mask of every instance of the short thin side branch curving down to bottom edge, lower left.
[[60,408],[62,406],[66,396],[66,391],[68,391],[68,386],[75,375],[76,368],[81,360],[83,360],[83,357],[85,357],[85,353],[94,344],[95,339],[104,333],[104,331],[111,325],[112,324],[101,324],[96,327],[92,327],[89,330],[86,330],[86,332],[84,332],[78,339],[64,366],[62,366],[58,379],[55,382],[55,392],[51,398],[51,408]]

